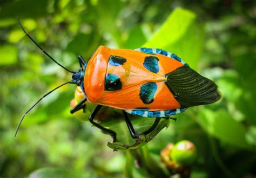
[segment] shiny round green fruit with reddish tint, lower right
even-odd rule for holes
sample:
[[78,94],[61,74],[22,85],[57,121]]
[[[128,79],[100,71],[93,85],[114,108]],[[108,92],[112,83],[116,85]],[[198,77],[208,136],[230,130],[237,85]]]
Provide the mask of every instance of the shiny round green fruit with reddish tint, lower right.
[[183,140],[176,143],[171,151],[170,156],[173,161],[180,165],[189,166],[197,157],[197,150],[190,141]]

